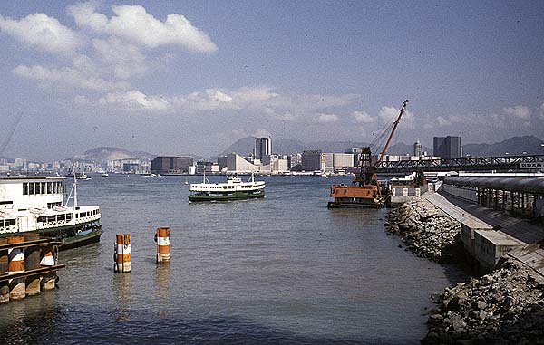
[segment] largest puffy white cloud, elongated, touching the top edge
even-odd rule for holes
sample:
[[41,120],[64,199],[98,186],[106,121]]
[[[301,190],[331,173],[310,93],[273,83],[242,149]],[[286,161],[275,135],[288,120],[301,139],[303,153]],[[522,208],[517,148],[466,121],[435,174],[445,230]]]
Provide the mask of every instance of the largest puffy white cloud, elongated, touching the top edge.
[[169,14],[165,22],[148,14],[141,5],[113,5],[114,16],[108,19],[96,12],[95,3],[83,3],[68,7],[68,14],[82,28],[103,34],[111,34],[131,43],[149,48],[160,45],[179,45],[194,52],[217,51],[209,35],[193,26],[181,14]]

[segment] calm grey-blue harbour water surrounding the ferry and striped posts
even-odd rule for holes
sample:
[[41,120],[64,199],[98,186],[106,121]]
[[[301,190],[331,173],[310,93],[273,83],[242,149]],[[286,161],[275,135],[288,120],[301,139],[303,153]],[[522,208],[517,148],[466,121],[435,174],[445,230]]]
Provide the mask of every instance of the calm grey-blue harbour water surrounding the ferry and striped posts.
[[[0,343],[419,343],[430,295],[461,270],[400,249],[387,209],[327,209],[348,177],[263,179],[265,199],[208,204],[189,204],[185,177],[82,181],[101,243],[61,252],[59,289],[0,305]],[[160,226],[170,265],[155,264]],[[113,273],[124,233],[132,272]]]

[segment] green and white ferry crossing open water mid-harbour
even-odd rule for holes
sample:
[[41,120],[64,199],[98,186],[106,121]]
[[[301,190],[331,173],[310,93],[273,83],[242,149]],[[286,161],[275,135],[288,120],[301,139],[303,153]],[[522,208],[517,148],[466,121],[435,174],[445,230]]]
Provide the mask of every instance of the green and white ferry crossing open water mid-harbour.
[[248,182],[240,177],[228,177],[224,183],[209,183],[204,176],[202,183],[189,186],[189,201],[228,201],[265,196],[265,181],[256,181],[253,174]]

